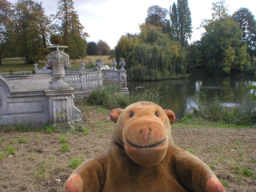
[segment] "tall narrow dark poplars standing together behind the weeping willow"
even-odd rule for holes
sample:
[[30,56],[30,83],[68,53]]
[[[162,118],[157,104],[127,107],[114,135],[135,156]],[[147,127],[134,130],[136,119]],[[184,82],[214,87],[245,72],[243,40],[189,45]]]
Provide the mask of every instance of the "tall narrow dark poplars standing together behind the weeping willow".
[[170,6],[170,37],[187,46],[192,34],[192,20],[188,0],[178,0]]

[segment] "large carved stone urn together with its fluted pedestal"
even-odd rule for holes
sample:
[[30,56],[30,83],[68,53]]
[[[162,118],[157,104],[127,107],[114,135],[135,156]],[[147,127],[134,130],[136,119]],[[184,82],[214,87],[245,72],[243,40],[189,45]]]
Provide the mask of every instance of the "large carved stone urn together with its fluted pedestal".
[[50,124],[57,130],[74,130],[74,126],[82,126],[82,113],[74,106],[74,88],[63,81],[65,69],[70,67],[70,56],[64,52],[66,46],[48,48],[54,50],[46,57],[46,67],[53,70],[54,78],[50,90],[45,91],[49,98]]

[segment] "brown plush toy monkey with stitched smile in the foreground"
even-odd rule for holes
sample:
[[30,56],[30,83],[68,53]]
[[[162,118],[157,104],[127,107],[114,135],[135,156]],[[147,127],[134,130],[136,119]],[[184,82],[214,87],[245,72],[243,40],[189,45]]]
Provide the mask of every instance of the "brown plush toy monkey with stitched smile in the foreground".
[[66,191],[225,191],[204,162],[174,145],[173,111],[137,102],[110,118],[117,123],[110,150],[78,166]]

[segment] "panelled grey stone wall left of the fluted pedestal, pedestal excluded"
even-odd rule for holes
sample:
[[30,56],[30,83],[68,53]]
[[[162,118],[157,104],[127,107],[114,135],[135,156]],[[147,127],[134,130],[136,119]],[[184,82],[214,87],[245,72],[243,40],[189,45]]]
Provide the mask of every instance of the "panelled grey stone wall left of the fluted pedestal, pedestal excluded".
[[44,126],[50,121],[43,91],[12,92],[0,76],[0,125]]

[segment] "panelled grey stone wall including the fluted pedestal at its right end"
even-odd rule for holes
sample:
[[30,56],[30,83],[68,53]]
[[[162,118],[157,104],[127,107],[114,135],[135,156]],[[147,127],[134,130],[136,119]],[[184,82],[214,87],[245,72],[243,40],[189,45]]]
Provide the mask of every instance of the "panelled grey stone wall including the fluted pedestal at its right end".
[[73,94],[73,88],[13,91],[0,76],[0,126],[50,124],[60,130],[72,130],[82,123],[82,113],[74,106]]

